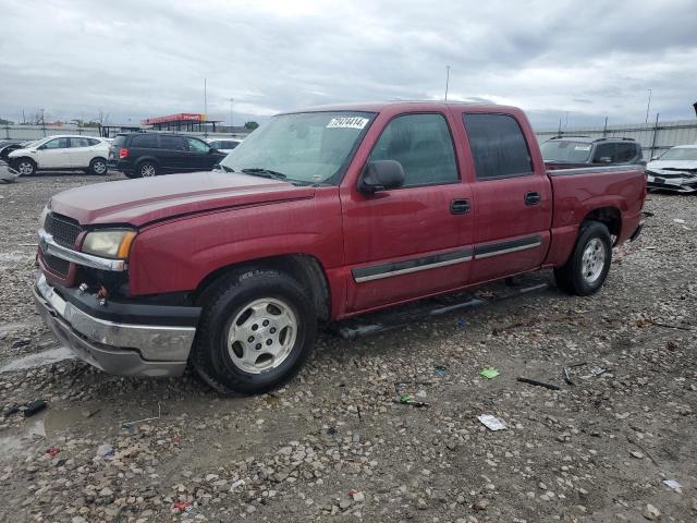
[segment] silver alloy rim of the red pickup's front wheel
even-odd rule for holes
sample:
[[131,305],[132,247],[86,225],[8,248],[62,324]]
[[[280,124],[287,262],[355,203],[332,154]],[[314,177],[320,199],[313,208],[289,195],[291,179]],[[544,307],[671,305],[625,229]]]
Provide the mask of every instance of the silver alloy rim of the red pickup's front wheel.
[[276,297],[256,300],[237,313],[225,337],[232,363],[249,374],[281,365],[293,350],[297,317],[291,306]]

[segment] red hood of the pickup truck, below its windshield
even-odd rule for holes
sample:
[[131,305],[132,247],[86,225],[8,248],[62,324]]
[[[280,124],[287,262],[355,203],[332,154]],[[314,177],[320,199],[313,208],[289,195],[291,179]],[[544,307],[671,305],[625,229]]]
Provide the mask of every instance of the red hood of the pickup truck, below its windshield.
[[315,188],[247,174],[192,172],[96,183],[59,193],[53,212],[81,224],[146,223],[207,210],[311,198]]

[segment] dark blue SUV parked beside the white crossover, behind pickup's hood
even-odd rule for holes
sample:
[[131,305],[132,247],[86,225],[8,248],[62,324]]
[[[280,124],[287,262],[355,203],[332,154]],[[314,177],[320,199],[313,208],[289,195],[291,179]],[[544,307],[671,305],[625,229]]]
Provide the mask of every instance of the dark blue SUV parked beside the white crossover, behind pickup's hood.
[[109,149],[109,167],[129,178],[172,172],[209,171],[225,157],[194,136],[171,133],[118,134]]

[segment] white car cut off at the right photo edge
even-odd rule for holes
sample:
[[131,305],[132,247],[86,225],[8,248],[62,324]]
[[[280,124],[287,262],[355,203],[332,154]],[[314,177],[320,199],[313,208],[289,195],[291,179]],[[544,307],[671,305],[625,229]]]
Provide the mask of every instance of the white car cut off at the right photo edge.
[[697,192],[697,145],[671,147],[646,166],[647,186],[677,193]]

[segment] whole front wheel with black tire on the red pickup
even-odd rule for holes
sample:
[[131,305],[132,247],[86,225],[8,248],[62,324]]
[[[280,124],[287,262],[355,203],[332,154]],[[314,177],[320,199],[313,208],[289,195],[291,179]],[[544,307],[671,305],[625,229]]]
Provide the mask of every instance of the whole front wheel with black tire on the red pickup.
[[215,285],[189,358],[204,381],[224,394],[258,394],[295,376],[317,336],[314,303],[298,282],[247,270]]

